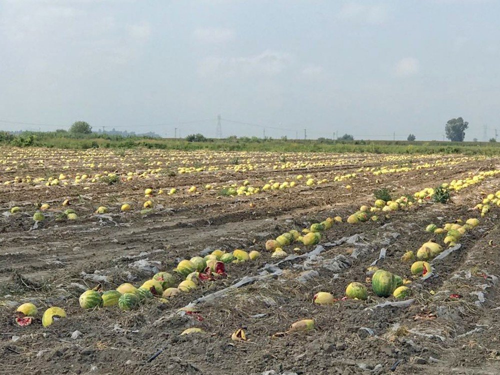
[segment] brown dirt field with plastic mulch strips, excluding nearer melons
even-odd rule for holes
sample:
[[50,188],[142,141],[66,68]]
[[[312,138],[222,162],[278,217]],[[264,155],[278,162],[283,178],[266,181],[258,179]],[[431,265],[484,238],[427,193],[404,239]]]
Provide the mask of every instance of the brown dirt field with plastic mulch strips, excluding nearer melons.
[[[491,204],[481,217],[473,207],[500,189],[500,174],[454,191],[448,204],[415,202],[376,212],[377,221],[345,219],[372,205],[380,187],[413,196],[499,168],[497,158],[442,155],[0,149],[0,373],[498,374],[500,208]],[[287,187],[262,191],[269,180]],[[259,191],[226,194],[233,184]],[[169,195],[171,188],[177,191]],[[141,213],[146,200],[153,208]],[[122,212],[125,202],[132,208]],[[42,203],[50,208],[34,225]],[[108,212],[94,213],[100,205]],[[13,206],[20,211],[10,214]],[[67,208],[76,220],[62,213]],[[343,222],[323,233],[321,247],[294,243],[284,259],[265,250],[267,239],[337,215]],[[425,226],[469,217],[480,224],[460,246],[431,262],[430,277],[412,277],[401,255],[429,238],[442,244]],[[78,304],[87,288],[140,286],[156,270],[218,248],[261,256],[227,264],[226,278],[127,312]],[[412,281],[409,304],[377,306],[396,299],[371,291],[367,268],[375,260]],[[352,281],[367,286],[367,300],[341,299]],[[339,300],[312,303],[318,291]],[[179,310],[212,293],[195,313]],[[28,301],[38,318],[19,327],[15,309]],[[67,317],[43,327],[48,306]],[[305,318],[314,319],[314,330],[272,337]],[[205,333],[179,335],[188,327]],[[238,328],[248,341],[231,340]]]

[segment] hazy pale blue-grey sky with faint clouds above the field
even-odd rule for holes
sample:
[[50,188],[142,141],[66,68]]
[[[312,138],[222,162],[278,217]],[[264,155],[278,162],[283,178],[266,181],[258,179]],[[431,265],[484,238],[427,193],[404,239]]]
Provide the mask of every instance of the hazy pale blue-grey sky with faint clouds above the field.
[[[500,131],[500,1],[0,0],[0,129]],[[200,121],[180,123],[188,121]],[[120,127],[118,127],[120,126]],[[273,129],[282,128],[280,129]]]

